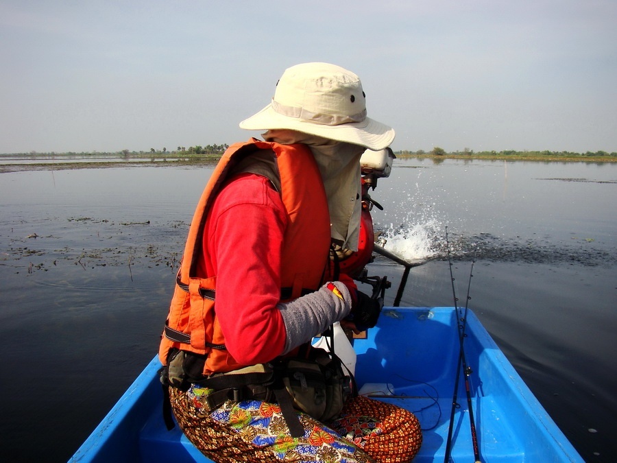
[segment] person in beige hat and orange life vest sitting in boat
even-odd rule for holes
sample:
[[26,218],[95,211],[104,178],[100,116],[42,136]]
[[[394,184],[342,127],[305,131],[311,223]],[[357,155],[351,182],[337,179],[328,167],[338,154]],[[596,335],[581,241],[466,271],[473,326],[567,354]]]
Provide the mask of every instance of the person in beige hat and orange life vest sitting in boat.
[[173,415],[216,462],[403,462],[420,448],[411,412],[352,394],[310,344],[380,313],[332,252],[358,248],[361,154],[394,140],[366,114],[354,73],[290,67],[240,123],[263,140],[229,147],[199,201],[159,357]]

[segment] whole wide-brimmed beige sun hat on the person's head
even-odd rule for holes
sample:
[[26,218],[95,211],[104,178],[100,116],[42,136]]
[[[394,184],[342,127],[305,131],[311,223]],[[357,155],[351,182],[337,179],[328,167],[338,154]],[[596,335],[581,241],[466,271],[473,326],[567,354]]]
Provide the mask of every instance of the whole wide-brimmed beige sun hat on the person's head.
[[383,150],[394,129],[366,116],[366,95],[357,75],[324,62],[285,70],[272,102],[245,119],[246,130],[290,129]]

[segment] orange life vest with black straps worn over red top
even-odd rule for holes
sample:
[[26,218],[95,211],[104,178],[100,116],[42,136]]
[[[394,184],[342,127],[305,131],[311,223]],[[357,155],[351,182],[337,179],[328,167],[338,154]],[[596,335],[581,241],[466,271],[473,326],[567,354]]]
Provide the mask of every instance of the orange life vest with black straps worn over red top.
[[306,145],[280,145],[252,139],[228,148],[202,193],[186,239],[177,285],[159,348],[167,364],[171,348],[207,355],[204,375],[242,368],[225,348],[225,337],[215,313],[216,275],[198,276],[203,259],[202,235],[208,211],[233,167],[257,150],[276,155],[280,195],[288,225],[281,262],[281,300],[298,298],[322,284],[329,261],[330,215],[322,176]]

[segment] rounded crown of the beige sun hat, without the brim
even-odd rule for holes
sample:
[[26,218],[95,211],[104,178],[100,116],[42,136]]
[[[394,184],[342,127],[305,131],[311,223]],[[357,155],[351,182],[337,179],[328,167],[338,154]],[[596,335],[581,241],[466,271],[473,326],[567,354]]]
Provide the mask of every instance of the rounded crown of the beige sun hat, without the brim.
[[366,117],[359,77],[334,64],[319,62],[287,69],[276,84],[272,106],[281,115],[328,126],[361,122]]

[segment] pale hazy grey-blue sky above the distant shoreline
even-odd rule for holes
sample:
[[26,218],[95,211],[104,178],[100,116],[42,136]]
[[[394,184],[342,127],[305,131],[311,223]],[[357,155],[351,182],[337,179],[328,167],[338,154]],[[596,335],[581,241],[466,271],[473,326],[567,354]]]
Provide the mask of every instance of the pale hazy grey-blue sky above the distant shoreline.
[[617,152],[616,0],[0,0],[0,59],[0,153],[243,141],[309,61],[394,150]]

